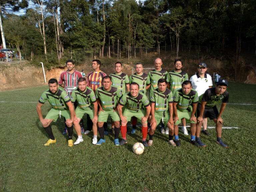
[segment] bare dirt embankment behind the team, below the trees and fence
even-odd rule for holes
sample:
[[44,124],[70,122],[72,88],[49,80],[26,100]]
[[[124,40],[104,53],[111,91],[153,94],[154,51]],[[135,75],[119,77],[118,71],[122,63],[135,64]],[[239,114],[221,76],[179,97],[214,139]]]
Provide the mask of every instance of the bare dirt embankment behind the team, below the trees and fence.
[[[216,60],[216,59],[205,59],[204,61],[207,63],[209,74],[213,74],[213,72],[219,72],[223,78],[226,78],[228,81],[234,81],[234,67],[231,64],[231,61],[228,60]],[[198,60],[186,60],[184,63],[189,63],[184,65],[186,72],[191,72],[189,75],[195,73],[196,67],[198,65]],[[132,65],[133,66],[133,65]],[[165,65],[167,70],[172,70],[173,65]],[[152,66],[153,67],[153,66]],[[127,74],[131,74],[131,65],[124,64],[123,72]],[[109,69],[109,70],[107,70]],[[59,79],[61,72],[66,70],[65,67],[56,67],[51,70],[45,70],[46,81],[51,78]],[[77,68],[80,71],[80,68]],[[85,69],[85,71],[91,69]],[[109,67],[105,68],[107,74],[113,72],[114,68]],[[244,82],[249,84],[256,84],[256,69],[250,65],[240,65],[238,67],[238,82]],[[34,87],[39,85],[45,85],[44,75],[42,67],[32,66],[28,64],[8,64],[8,65],[0,65],[0,91],[5,90],[15,90],[26,87]]]

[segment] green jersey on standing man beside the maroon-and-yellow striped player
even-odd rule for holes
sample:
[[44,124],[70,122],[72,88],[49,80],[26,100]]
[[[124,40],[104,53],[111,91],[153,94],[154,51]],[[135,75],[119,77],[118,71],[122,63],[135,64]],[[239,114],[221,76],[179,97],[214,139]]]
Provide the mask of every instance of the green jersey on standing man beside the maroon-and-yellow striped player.
[[112,85],[120,89],[122,93],[125,94],[125,85],[130,84],[128,75],[126,75],[125,73],[121,73],[119,75],[116,73],[112,73],[109,76],[112,79]]

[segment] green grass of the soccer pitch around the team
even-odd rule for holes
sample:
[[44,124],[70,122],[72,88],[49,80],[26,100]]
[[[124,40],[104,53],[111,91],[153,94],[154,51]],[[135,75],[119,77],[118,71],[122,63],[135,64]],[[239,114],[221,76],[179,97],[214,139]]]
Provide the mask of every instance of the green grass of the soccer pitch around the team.
[[[102,146],[92,145],[90,133],[69,148],[63,119],[52,124],[56,144],[43,146],[48,137],[36,104],[46,89],[0,92],[0,101],[31,102],[0,102],[0,191],[256,191],[256,85],[228,87],[223,126],[239,127],[223,129],[228,148],[216,144],[214,129],[209,129],[212,137],[201,135],[206,147],[191,145],[190,136],[180,132],[182,146],[173,148],[157,128],[153,146],[142,155],[132,152],[142,138],[140,127],[127,136],[125,146],[114,146],[113,135],[105,136]],[[50,105],[42,109],[45,116]],[[208,125],[214,126],[212,121]]]

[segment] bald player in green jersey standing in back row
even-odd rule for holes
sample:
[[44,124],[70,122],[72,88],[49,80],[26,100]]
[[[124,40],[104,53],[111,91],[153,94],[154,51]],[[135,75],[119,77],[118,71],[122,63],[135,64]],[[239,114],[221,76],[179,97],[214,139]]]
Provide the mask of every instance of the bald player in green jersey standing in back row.
[[[154,65],[155,65],[155,69],[148,73],[148,78],[150,80],[150,94],[156,88],[158,88],[157,86],[158,80],[162,78],[166,79],[168,74],[168,72],[165,69],[162,69],[163,62],[160,58],[155,59]],[[169,134],[169,128],[166,128],[166,130],[164,130],[163,122],[161,124],[162,124],[161,133]]]

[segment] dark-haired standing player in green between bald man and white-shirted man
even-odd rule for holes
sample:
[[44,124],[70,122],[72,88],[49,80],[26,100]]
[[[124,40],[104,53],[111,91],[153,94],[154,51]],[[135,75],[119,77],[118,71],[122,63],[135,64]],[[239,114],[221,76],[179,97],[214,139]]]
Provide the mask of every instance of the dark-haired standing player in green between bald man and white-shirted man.
[[[172,94],[177,89],[180,89],[182,87],[182,83],[186,80],[188,80],[188,74],[181,70],[183,61],[181,59],[175,59],[174,61],[174,67],[175,69],[173,71],[170,71],[167,75],[166,81],[169,83],[167,85],[167,88],[170,88],[172,91]],[[182,129],[184,135],[188,135],[188,131],[186,129],[186,120],[182,119]]]

